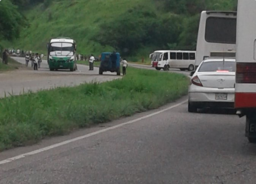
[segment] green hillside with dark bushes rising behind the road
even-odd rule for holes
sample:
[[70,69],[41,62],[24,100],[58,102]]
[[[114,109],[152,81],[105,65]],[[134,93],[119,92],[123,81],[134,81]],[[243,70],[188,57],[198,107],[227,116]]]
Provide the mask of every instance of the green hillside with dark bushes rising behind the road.
[[50,38],[65,36],[79,53],[116,49],[136,60],[156,49],[195,49],[200,12],[235,7],[236,0],[45,0],[23,8],[29,26],[9,46],[46,53]]

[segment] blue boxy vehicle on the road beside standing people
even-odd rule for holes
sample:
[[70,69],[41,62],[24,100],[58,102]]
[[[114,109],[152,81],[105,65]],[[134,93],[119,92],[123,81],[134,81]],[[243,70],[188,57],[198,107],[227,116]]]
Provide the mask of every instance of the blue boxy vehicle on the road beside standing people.
[[116,72],[120,75],[120,53],[116,52],[117,59],[112,59],[112,52],[101,53],[99,74],[102,75],[105,71]]

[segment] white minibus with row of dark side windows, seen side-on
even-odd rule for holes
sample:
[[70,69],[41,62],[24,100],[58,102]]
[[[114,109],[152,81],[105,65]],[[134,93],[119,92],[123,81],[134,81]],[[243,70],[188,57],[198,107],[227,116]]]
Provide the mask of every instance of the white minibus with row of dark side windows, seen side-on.
[[158,61],[153,61],[156,70],[176,68],[182,71],[195,69],[196,51],[165,51],[161,53]]

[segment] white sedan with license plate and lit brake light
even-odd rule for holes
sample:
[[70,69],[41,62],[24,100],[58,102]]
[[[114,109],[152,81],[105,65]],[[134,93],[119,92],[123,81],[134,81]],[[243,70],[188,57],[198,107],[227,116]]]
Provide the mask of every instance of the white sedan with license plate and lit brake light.
[[206,59],[191,73],[188,111],[207,107],[233,108],[235,101],[235,59]]

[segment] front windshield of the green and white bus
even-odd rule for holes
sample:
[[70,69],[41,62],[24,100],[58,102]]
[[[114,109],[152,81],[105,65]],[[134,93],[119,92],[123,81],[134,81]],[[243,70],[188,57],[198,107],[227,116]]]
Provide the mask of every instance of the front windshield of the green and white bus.
[[50,46],[51,56],[73,56],[74,46],[72,43],[51,43]]

